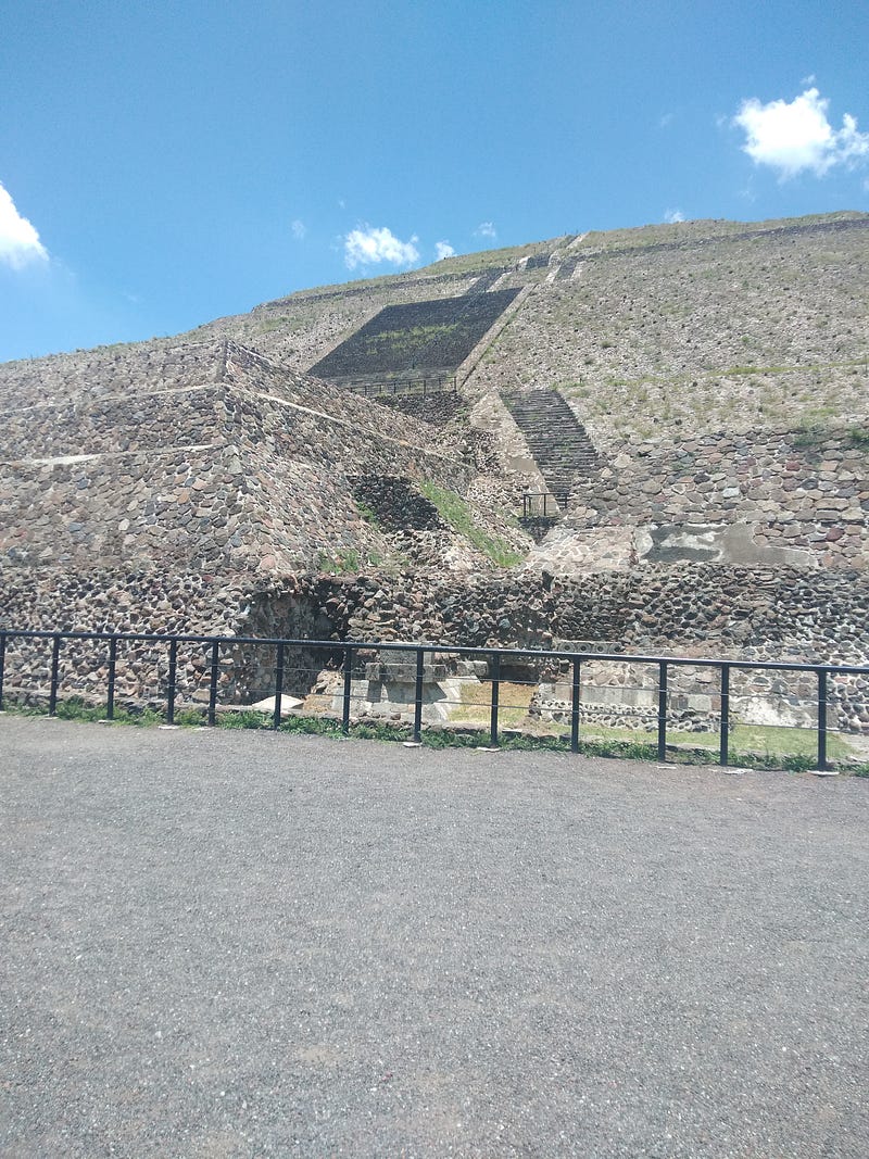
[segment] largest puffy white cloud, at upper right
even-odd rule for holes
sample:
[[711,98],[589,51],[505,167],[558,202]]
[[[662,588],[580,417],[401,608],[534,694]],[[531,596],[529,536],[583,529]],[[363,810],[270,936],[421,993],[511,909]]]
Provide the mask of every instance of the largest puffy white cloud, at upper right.
[[733,124],[744,130],[743,150],[752,161],[777,169],[782,181],[803,170],[823,177],[834,165],[869,159],[869,133],[857,131],[849,112],[842,117],[842,127],[833,129],[828,107],[817,88],[808,88],[790,103],[761,104],[751,97],[739,105]]

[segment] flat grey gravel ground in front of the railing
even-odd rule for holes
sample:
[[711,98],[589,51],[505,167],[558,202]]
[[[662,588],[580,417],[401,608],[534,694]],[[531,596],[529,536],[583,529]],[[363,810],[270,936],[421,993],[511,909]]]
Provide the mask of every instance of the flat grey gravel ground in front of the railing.
[[869,781],[0,716],[3,1156],[869,1153]]

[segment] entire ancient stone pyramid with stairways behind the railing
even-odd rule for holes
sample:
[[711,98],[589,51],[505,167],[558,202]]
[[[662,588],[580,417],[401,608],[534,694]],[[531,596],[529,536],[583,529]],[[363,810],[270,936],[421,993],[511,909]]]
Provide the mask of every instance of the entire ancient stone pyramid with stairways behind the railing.
[[[0,626],[867,663],[868,225],[569,236],[0,366]],[[421,358],[457,388],[371,399],[309,373],[358,386]],[[553,480],[535,542],[516,517]],[[182,658],[191,699],[204,663]],[[262,692],[269,663],[239,646],[221,688]],[[335,663],[312,649],[292,690]],[[355,680],[403,686],[366,663]],[[10,679],[45,664],[16,644]],[[156,697],[163,651],[137,664],[125,694]],[[71,690],[104,676],[63,665]],[[587,712],[642,724],[647,676],[600,671]],[[532,675],[557,719],[563,672]],[[692,679],[681,722],[709,727]],[[831,705],[869,731],[866,683]]]

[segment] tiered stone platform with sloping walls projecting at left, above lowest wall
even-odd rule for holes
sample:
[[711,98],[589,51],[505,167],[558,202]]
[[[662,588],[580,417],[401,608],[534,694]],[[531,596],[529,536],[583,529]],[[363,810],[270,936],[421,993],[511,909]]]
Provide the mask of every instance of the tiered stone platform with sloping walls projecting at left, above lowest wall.
[[364,563],[388,545],[360,518],[348,473],[397,468],[453,488],[472,478],[460,440],[436,446],[411,417],[232,344],[210,355],[181,350],[171,365],[188,380],[170,393],[118,396],[93,379],[68,403],[7,411],[0,559],[182,571],[287,571],[348,553]]

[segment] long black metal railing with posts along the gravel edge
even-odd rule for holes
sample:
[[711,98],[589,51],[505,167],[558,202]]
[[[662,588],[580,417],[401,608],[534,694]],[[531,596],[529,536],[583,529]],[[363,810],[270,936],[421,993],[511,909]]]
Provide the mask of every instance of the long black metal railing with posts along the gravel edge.
[[[418,742],[423,728],[424,707],[424,678],[426,657],[450,656],[484,661],[488,665],[489,680],[491,684],[491,699],[488,705],[489,721],[488,734],[491,748],[497,748],[501,730],[501,687],[502,683],[509,679],[503,676],[503,670],[507,665],[540,664],[546,669],[552,669],[554,664],[561,665],[561,670],[569,673],[565,684],[570,687],[570,700],[568,707],[569,716],[569,744],[572,752],[579,751],[580,738],[580,707],[582,707],[582,672],[584,664],[598,664],[612,662],[622,665],[650,665],[657,673],[657,755],[662,761],[666,759],[667,749],[667,695],[669,680],[673,670],[678,669],[711,669],[718,673],[720,691],[720,748],[718,758],[722,765],[729,761],[729,732],[731,724],[731,673],[735,671],[760,671],[760,672],[790,672],[812,673],[815,678],[815,707],[817,709],[817,767],[827,768],[827,699],[828,681],[832,678],[842,676],[869,676],[869,666],[866,665],[834,665],[834,664],[799,664],[799,663],[772,663],[761,661],[742,659],[715,659],[686,656],[645,656],[625,655],[623,653],[594,653],[594,651],[549,651],[540,649],[516,649],[516,648],[470,648],[451,644],[418,644],[406,642],[384,641],[334,641],[334,640],[292,640],[261,636],[220,636],[220,635],[162,635],[155,633],[110,633],[110,632],[50,632],[36,629],[0,629],[0,710],[3,709],[5,681],[7,677],[10,646],[16,641],[44,640],[51,644],[51,659],[49,665],[49,690],[48,708],[50,715],[57,714],[58,697],[61,691],[60,658],[61,649],[66,643],[94,643],[104,644],[104,650],[100,650],[100,668],[105,668],[105,716],[112,720],[115,716],[117,700],[118,663],[122,649],[132,651],[133,646],[149,646],[161,651],[165,649],[166,680],[163,684],[162,702],[166,709],[167,723],[175,722],[177,675],[178,675],[178,649],[181,646],[193,646],[204,649],[207,661],[207,701],[202,707],[205,719],[210,726],[217,723],[218,710],[218,683],[221,672],[221,651],[225,649],[239,649],[255,647],[266,649],[273,664],[269,665],[272,673],[271,693],[275,697],[273,716],[271,727],[277,729],[280,726],[283,715],[283,695],[285,678],[287,672],[287,651],[298,649],[302,654],[315,653],[328,654],[336,659],[339,657],[343,665],[343,681],[341,697],[341,727],[348,732],[351,723],[353,661],[360,653],[367,654],[399,654],[414,658],[414,698],[412,705],[412,737]],[[301,671],[301,669],[299,670]],[[79,673],[80,675],[80,673]],[[19,690],[21,691],[21,690]],[[27,690],[24,690],[27,691]],[[38,690],[31,688],[31,692]],[[718,714],[716,713],[716,716]],[[803,726],[801,726],[803,727]]]

